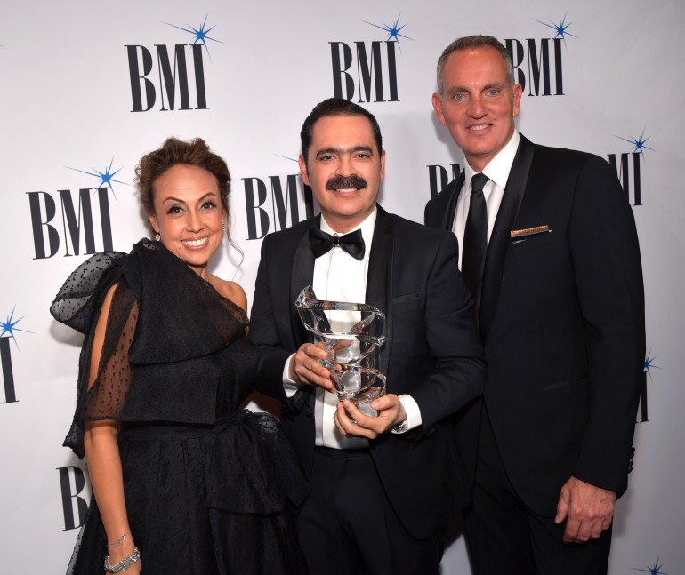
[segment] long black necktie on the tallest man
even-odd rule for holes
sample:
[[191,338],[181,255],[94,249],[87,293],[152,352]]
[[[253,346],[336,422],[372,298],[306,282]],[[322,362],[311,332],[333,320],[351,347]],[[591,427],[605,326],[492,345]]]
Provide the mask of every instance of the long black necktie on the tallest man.
[[483,188],[488,176],[477,173],[471,178],[471,204],[463,230],[462,275],[466,287],[475,302],[476,323],[480,309],[480,284],[485,269],[485,254],[488,252],[488,206]]

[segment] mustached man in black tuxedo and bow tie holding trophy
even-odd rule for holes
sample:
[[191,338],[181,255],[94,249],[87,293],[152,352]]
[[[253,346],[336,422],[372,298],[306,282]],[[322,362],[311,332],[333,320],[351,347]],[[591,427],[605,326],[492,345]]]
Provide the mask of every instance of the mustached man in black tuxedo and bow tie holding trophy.
[[[485,377],[455,237],[376,204],[385,152],[364,108],[325,100],[301,137],[302,180],[321,214],[264,239],[250,338],[294,354],[282,426],[311,483],[298,515],[302,547],[312,574],[438,575],[440,531],[467,497],[449,418],[476,400]],[[361,237],[364,247],[352,256],[341,240],[315,256],[318,230]],[[371,403],[377,417],[331,393],[317,361],[325,354],[294,307],[307,285],[320,299],[386,314],[379,363],[388,393]]]

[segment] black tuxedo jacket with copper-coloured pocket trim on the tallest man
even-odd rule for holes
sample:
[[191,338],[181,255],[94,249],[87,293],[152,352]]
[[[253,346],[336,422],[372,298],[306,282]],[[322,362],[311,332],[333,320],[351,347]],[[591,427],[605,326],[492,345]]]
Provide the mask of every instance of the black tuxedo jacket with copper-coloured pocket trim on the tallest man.
[[[452,229],[463,173],[426,206]],[[548,226],[550,233],[512,237]],[[625,491],[645,353],[633,212],[598,156],[523,136],[488,244],[484,401],[514,489],[554,515],[571,475]],[[478,428],[478,414],[464,425]]]

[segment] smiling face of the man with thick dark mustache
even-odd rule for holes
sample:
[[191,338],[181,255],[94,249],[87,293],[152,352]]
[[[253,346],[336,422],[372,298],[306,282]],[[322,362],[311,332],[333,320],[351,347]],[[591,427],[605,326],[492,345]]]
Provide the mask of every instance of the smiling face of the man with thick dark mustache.
[[385,152],[376,148],[365,116],[323,116],[311,131],[302,181],[311,187],[321,214],[344,234],[374,211],[385,175]]

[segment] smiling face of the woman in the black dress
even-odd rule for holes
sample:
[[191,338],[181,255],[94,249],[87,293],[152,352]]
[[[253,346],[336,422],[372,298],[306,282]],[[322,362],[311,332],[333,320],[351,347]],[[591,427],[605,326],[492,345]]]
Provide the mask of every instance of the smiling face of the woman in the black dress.
[[205,277],[207,262],[223,239],[218,181],[202,168],[176,164],[155,180],[153,196],[149,223],[162,244]]

